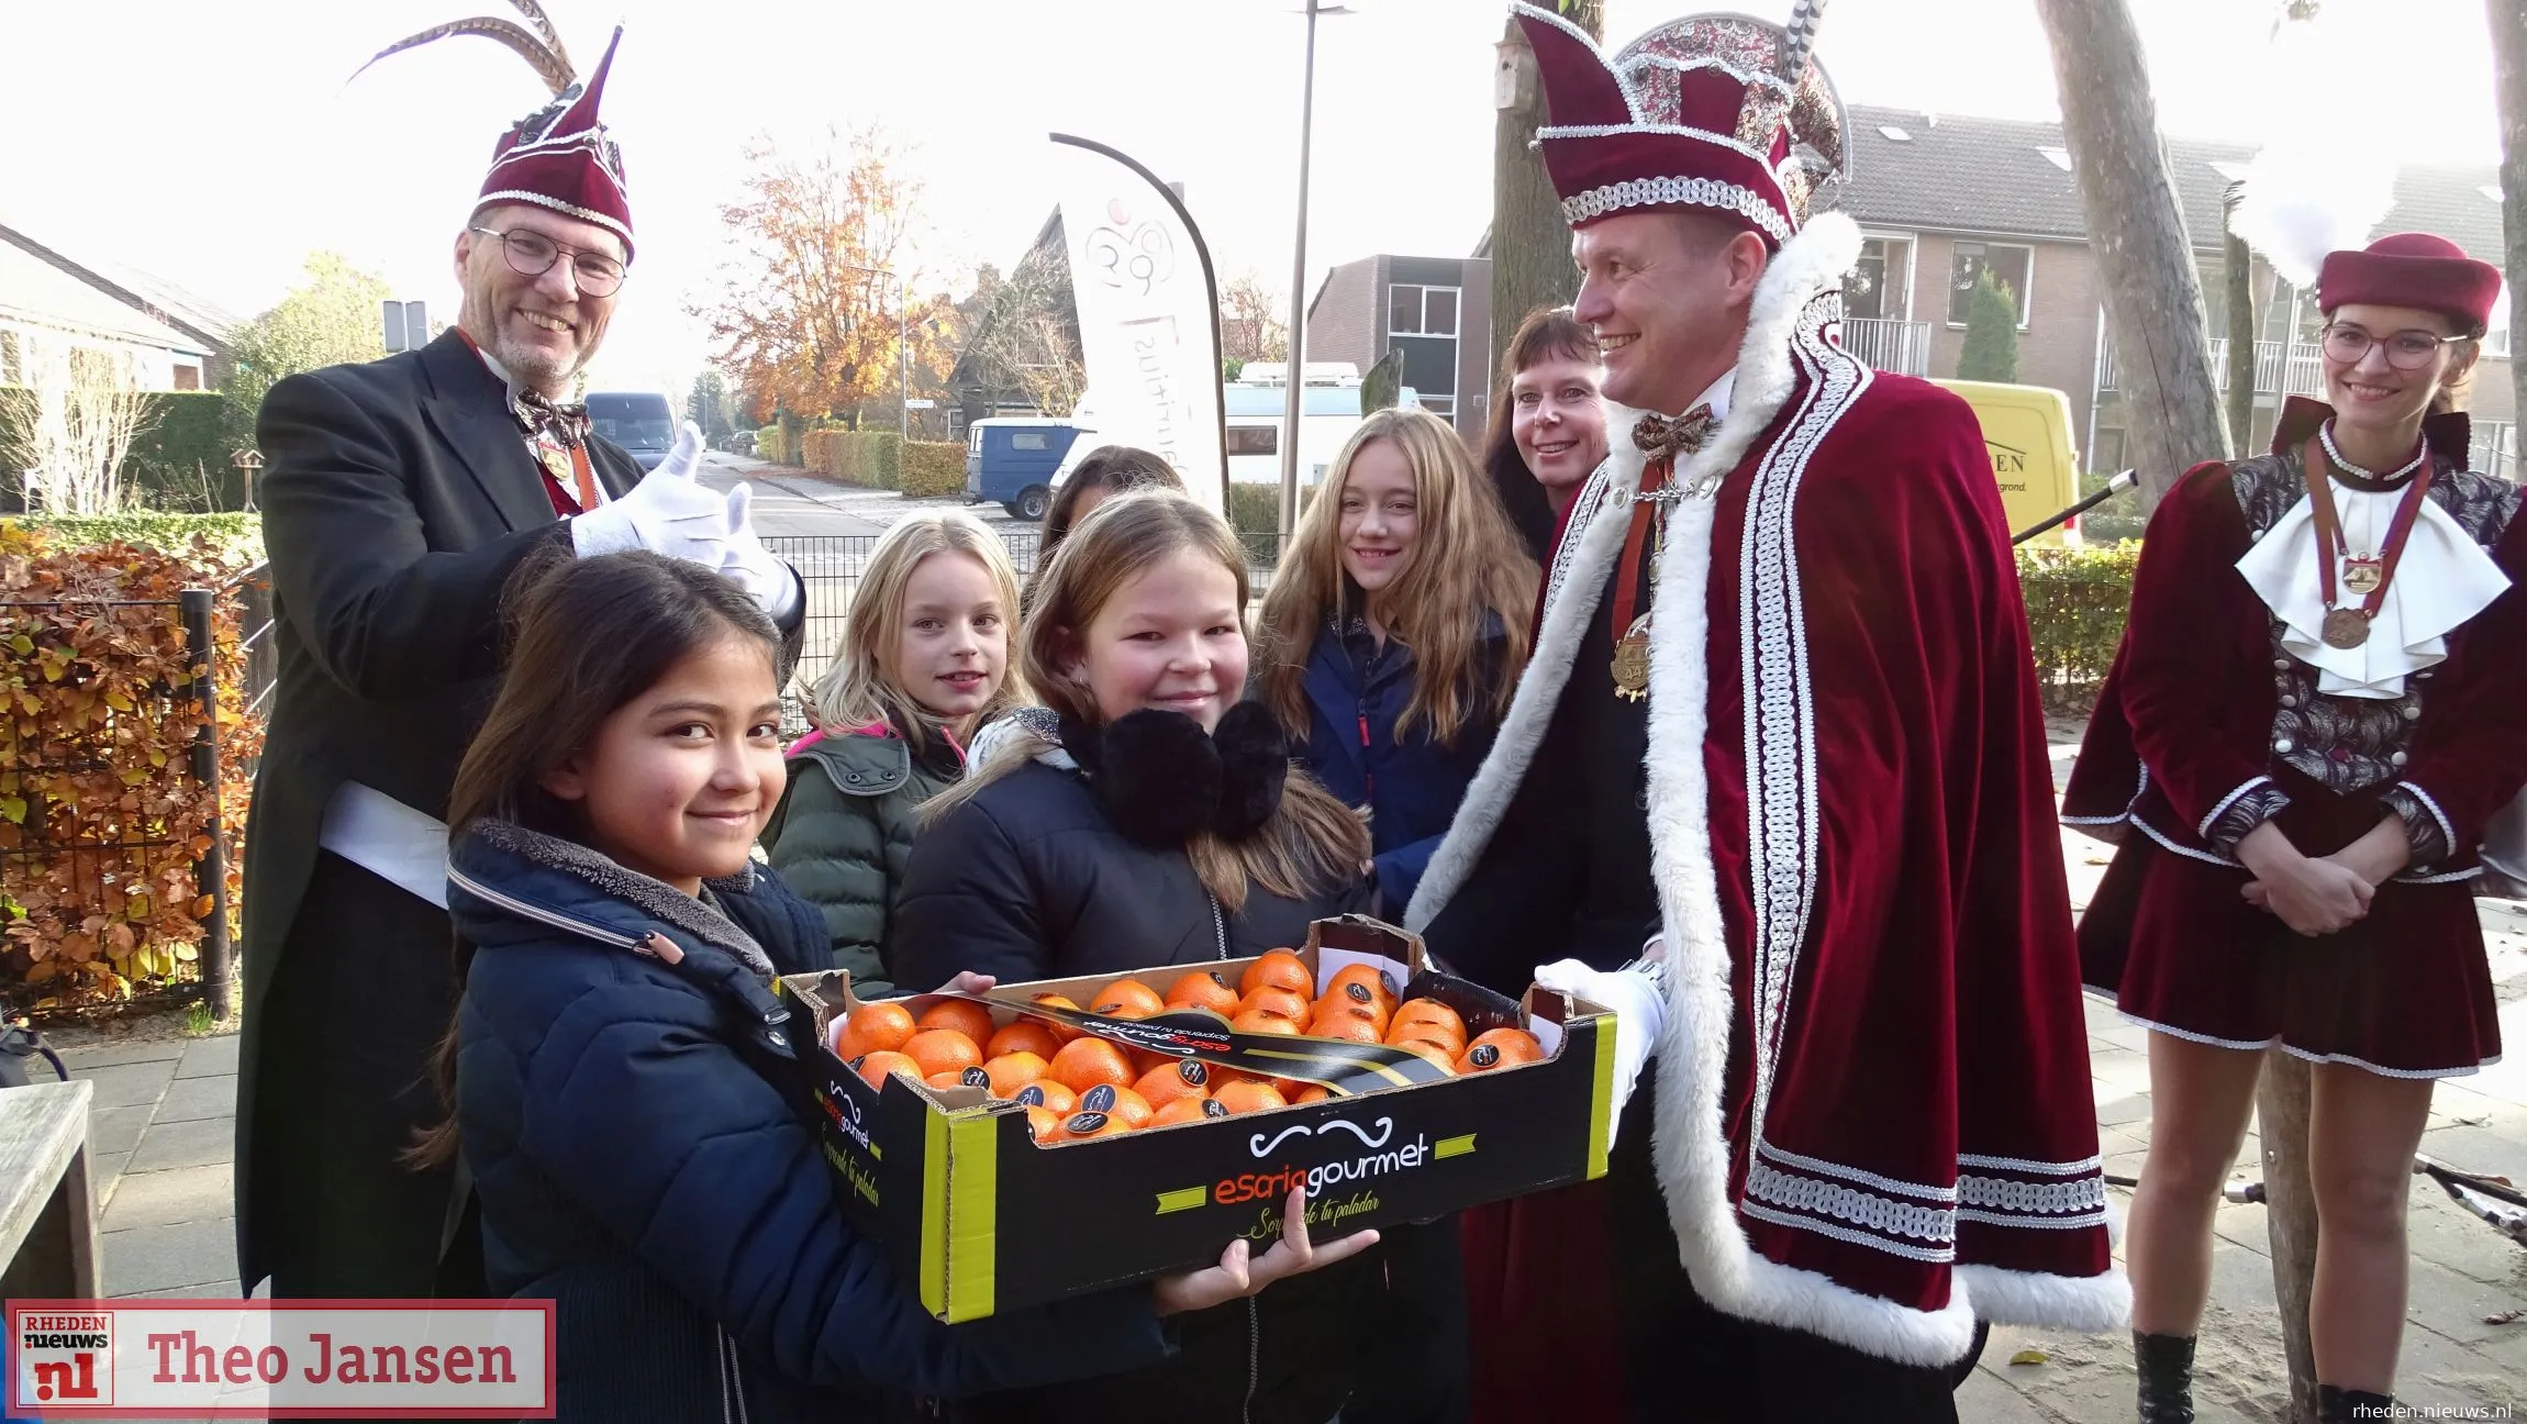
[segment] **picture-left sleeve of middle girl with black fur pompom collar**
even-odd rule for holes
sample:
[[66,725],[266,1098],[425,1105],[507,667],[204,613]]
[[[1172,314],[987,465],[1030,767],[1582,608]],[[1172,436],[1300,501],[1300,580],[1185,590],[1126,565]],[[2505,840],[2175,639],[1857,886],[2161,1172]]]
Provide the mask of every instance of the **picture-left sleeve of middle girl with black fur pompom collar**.
[[970,969],[993,979],[1049,979],[1054,943],[1023,847],[983,799],[922,830],[895,898],[887,966],[897,984],[932,986]]

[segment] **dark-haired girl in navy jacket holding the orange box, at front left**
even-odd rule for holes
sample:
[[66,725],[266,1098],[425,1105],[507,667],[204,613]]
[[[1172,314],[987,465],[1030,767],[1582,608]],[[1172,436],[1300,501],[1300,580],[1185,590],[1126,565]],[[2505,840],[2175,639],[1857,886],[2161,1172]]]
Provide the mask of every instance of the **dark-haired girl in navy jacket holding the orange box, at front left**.
[[[940,1325],[841,1217],[771,976],[821,918],[751,860],[781,799],[778,635],[697,564],[612,554],[518,594],[450,797],[455,1120],[493,1290],[558,1308],[558,1416],[852,1421],[884,1399],[1130,1371],[1165,1315],[1349,1255]],[[986,989],[960,976],[958,989]]]

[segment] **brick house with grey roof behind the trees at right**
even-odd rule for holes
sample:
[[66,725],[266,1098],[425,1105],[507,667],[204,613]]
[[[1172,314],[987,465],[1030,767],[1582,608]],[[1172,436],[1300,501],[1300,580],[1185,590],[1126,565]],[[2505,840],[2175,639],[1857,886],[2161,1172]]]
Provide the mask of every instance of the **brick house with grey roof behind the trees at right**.
[[[2123,465],[2123,400],[2105,336],[2105,293],[2060,124],[1850,109],[1850,182],[1837,207],[1865,235],[1845,286],[1845,341],[1883,369],[1953,377],[1966,298],[1991,268],[2019,296],[2019,382],[2070,395],[2075,440],[2092,470]],[[2168,139],[2168,159],[2204,278],[2211,331],[2226,331],[2221,200],[2249,144]],[[2380,233],[2439,233],[2502,261],[2499,175],[2492,167],[2406,167]],[[2322,395],[2315,304],[2257,261],[2257,440],[2279,397]],[[2214,339],[2214,369],[2226,339]],[[2492,331],[2474,379],[2476,468],[2517,476],[2509,334]]]

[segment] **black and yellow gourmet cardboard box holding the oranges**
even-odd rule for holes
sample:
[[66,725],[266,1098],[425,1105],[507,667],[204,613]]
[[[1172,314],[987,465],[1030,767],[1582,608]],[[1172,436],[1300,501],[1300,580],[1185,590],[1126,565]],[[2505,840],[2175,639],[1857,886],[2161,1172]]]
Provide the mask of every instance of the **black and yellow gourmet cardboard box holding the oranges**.
[[[1319,921],[1299,956],[1319,994],[1347,964],[1372,964],[1402,989],[1400,997],[1428,989],[1456,1007],[1468,1037],[1488,1024],[1524,1027],[1544,1057],[1458,1077],[1418,1070],[1410,1077],[1428,1080],[1410,1085],[1382,1070],[1377,1088],[1319,1103],[1039,1146],[1026,1105],[983,1088],[930,1088],[910,1077],[869,1088],[826,1047],[831,1024],[859,1007],[849,974],[796,974],[778,989],[793,1009],[791,1045],[824,1113],[824,1153],[841,1179],[844,1209],[887,1244],[940,1320],[975,1320],[1213,1265],[1236,1237],[1264,1252],[1281,1232],[1291,1184],[1309,1189],[1309,1232],[1332,1239],[1605,1174],[1615,1075],[1610,1009],[1547,989],[1511,1002],[1433,974],[1420,938],[1362,916]],[[1170,964],[1135,976],[1165,991],[1178,974],[1215,969],[1233,986],[1248,964],[1253,959]],[[1013,1022],[1021,1017],[1016,1004],[1044,991],[1092,1004],[1114,979],[1122,974],[1001,984],[991,991],[993,1019]],[[1135,1032],[1135,1024],[1094,1014],[1077,1024]],[[1231,1034],[1223,1024],[1213,1037]],[[1152,1037],[1142,1032],[1140,1042]],[[1291,1050],[1324,1040],[1269,1042]],[[1218,1045],[1200,1032],[1185,1045],[1167,1055],[1253,1062],[1233,1052],[1215,1057]]]

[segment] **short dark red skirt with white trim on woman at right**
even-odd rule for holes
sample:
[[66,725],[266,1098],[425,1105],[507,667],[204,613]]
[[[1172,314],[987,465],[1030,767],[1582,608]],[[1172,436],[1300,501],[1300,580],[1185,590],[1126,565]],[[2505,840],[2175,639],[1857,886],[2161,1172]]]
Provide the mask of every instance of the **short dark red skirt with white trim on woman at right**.
[[[2375,794],[2337,797],[2289,766],[2272,776],[2292,797],[2279,827],[2305,855],[2343,850],[2388,814]],[[2368,918],[2310,938],[2244,900],[2244,868],[2196,860],[2138,827],[2128,835],[2118,860],[2145,857],[2125,868],[2138,875],[2118,878],[2133,895],[2115,984],[2128,1019],[2219,1047],[2279,1045],[2388,1077],[2451,1077],[2499,1060],[2471,880],[2388,880]],[[2118,918],[2108,905],[2090,913],[2100,908],[2100,923]]]

